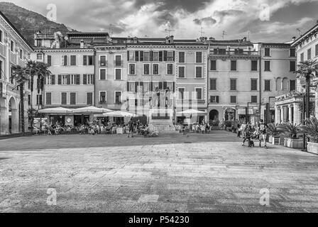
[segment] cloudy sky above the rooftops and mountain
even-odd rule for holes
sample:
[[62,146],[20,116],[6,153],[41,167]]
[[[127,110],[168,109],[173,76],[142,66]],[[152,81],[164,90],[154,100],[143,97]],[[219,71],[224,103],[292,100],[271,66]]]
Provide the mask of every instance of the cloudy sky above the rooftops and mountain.
[[[318,0],[12,0],[78,31],[111,36],[287,42],[318,20]],[[50,13],[49,13],[50,14]],[[50,14],[51,16],[53,14]]]

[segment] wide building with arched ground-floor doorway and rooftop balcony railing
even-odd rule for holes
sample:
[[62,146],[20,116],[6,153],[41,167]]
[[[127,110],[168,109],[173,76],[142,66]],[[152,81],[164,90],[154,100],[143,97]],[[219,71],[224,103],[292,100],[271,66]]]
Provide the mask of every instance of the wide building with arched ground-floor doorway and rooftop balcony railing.
[[209,121],[256,121],[259,62],[259,52],[246,38],[209,40]]

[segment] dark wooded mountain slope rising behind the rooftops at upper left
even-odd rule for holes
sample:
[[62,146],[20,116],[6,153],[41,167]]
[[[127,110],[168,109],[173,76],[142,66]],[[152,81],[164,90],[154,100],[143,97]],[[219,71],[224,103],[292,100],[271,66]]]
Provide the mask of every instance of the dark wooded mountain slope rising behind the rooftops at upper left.
[[72,28],[67,28],[67,26],[62,23],[49,21],[40,13],[29,11],[11,2],[1,1],[0,11],[4,13],[4,16],[13,23],[31,45],[34,44],[35,31],[42,31],[44,33],[51,29],[51,32],[60,31],[62,34],[69,33],[70,31],[77,32]]

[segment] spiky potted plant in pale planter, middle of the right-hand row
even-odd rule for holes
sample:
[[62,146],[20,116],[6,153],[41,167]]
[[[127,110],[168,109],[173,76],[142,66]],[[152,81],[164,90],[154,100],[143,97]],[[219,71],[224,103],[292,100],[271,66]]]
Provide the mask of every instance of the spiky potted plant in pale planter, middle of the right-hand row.
[[282,132],[288,137],[284,138],[284,145],[287,148],[297,148],[303,147],[302,138],[298,138],[297,135],[301,132],[300,124],[282,123],[278,126],[278,131]]

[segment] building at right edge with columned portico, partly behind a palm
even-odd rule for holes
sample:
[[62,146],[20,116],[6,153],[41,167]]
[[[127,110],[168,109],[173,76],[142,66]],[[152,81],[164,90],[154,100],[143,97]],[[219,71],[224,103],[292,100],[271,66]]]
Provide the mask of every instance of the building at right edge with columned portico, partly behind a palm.
[[[298,65],[300,62],[318,59],[318,23],[299,38],[293,40],[291,47],[295,48]],[[303,111],[303,95],[305,94],[305,79],[297,79],[296,92],[289,92],[276,97],[276,123],[290,121],[301,123],[305,118]],[[317,85],[317,79],[312,79],[312,86]],[[293,88],[293,87],[292,87]],[[309,115],[318,116],[317,88],[310,90]]]

